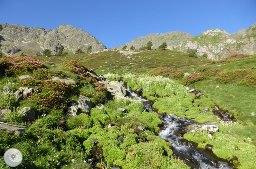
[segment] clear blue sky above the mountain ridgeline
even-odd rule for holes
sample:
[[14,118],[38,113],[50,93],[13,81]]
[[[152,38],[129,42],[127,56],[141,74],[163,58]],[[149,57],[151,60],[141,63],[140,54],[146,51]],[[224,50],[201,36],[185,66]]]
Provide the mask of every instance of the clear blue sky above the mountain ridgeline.
[[256,0],[0,0],[0,22],[71,24],[110,48],[149,33],[248,29],[256,22]]

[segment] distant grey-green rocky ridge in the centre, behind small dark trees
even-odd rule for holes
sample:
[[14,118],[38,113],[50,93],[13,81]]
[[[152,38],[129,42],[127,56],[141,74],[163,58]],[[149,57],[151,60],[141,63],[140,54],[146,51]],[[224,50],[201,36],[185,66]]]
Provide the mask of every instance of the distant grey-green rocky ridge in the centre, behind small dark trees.
[[175,45],[186,41],[191,37],[194,36],[181,31],[174,31],[163,34],[148,34],[147,36],[137,37],[133,41],[130,41],[118,47],[112,47],[108,50],[121,50],[124,46],[127,46],[127,49],[130,49],[131,46],[134,46],[135,49],[139,49],[142,46],[146,46],[148,41],[151,41],[153,43],[153,46],[151,47],[152,49],[157,49],[163,42],[167,43],[168,49],[172,49],[172,47],[174,47]]

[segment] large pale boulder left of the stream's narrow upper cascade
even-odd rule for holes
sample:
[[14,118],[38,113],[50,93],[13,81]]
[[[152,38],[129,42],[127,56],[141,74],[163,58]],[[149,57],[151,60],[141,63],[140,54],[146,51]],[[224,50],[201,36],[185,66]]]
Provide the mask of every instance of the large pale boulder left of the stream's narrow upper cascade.
[[108,88],[108,91],[113,95],[121,97],[124,97],[126,95],[125,88],[118,81],[110,81],[110,83],[106,85],[106,87]]

